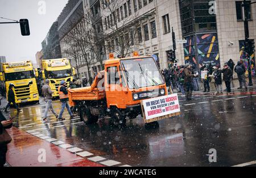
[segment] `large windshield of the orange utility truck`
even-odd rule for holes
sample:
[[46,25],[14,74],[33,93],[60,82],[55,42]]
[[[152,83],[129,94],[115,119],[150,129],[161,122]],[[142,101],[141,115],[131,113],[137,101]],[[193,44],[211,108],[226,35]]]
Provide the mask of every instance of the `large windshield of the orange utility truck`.
[[164,84],[163,77],[152,57],[122,60],[121,65],[130,89]]

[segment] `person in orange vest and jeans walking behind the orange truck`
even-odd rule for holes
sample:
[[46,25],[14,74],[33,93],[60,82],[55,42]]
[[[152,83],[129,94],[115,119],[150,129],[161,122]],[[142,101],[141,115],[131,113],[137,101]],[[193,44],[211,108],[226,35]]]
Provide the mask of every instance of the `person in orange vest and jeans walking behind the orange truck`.
[[65,118],[62,118],[65,107],[67,107],[68,113],[69,113],[69,115],[72,119],[73,114],[72,114],[72,111],[71,111],[71,109],[68,105],[68,90],[66,88],[66,82],[64,80],[60,81],[60,86],[58,88],[58,91],[59,91],[59,96],[60,96],[60,101],[61,101],[61,110],[60,110],[60,114],[59,114],[58,119],[60,121],[65,120]]

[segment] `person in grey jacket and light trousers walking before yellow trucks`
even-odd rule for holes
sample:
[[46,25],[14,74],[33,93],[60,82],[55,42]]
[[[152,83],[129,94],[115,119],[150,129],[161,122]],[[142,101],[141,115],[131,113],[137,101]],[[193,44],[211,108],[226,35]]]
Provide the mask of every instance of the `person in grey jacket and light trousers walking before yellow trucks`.
[[50,86],[49,86],[49,79],[46,79],[43,87],[42,87],[42,94],[44,97],[44,101],[46,102],[46,110],[44,111],[44,116],[43,116],[43,122],[47,121],[47,114],[48,110],[51,109],[52,114],[55,115],[56,118],[58,118],[58,115],[56,114],[55,110],[52,107],[52,93],[54,93]]

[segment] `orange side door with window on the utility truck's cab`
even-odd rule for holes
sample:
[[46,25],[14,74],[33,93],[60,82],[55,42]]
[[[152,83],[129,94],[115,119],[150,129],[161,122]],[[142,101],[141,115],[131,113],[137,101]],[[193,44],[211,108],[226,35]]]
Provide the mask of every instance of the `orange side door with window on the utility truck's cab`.
[[107,77],[106,77],[106,99],[108,102],[108,107],[117,106],[118,108],[125,107],[125,98],[122,84],[120,82],[120,72],[118,66],[107,67]]

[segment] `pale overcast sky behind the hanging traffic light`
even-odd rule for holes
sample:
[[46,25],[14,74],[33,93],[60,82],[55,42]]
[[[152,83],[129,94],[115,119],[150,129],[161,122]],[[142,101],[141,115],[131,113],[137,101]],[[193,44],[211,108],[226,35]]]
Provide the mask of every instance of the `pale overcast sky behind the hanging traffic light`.
[[[19,24],[0,24],[0,56],[7,61],[32,60],[42,49],[41,42],[68,0],[0,0],[0,16],[19,20],[28,19],[30,36],[20,34]],[[46,13],[44,14],[44,3]],[[0,18],[0,22],[9,22]]]

